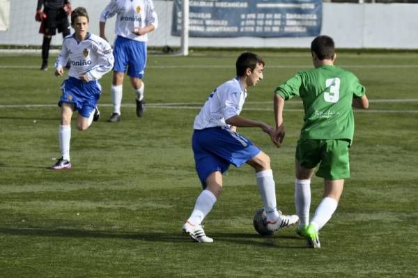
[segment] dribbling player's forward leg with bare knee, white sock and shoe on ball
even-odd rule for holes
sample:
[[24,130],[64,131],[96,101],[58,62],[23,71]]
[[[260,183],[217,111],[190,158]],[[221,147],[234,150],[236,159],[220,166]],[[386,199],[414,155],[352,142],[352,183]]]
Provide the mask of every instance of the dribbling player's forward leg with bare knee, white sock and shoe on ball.
[[276,231],[297,223],[297,215],[282,215],[277,210],[276,185],[270,168],[270,157],[260,150],[258,155],[247,161],[247,164],[256,170],[258,190],[267,214],[268,229]]

